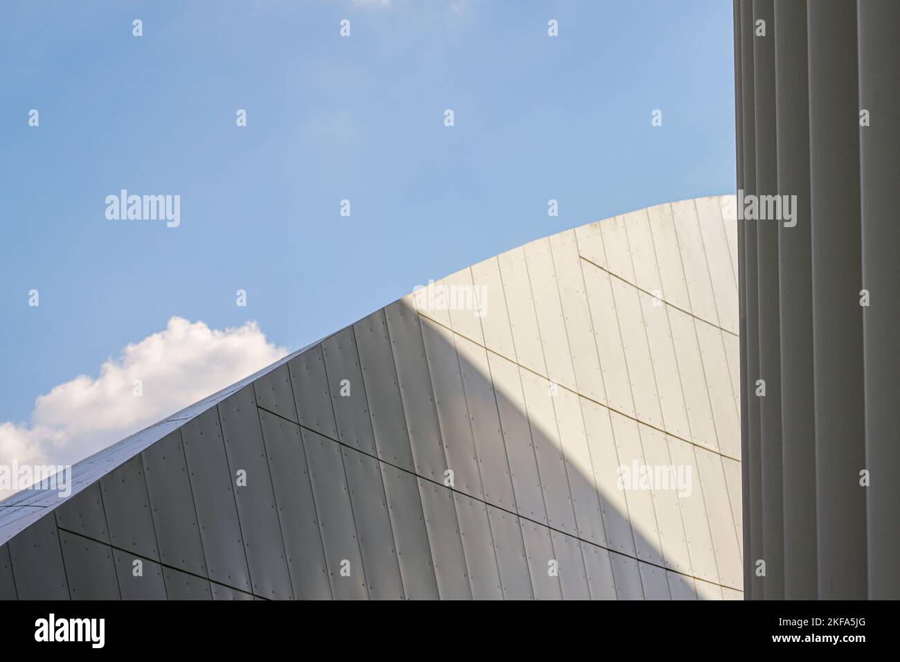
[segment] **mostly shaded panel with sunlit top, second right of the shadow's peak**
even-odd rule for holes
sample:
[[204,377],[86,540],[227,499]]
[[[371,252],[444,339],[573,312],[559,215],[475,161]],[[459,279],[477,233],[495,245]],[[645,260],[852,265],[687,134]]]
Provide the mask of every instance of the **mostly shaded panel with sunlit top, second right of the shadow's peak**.
[[455,340],[478,466],[482,473],[484,500],[515,511],[516,499],[509,477],[509,462],[500,430],[497,396],[491,384],[487,352],[481,345],[462,336],[456,336]]

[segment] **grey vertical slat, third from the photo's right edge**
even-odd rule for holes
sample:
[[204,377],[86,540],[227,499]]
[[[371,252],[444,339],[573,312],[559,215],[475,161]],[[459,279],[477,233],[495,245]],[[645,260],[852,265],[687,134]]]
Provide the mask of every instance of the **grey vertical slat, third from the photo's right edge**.
[[784,597],[815,600],[815,410],[809,215],[806,0],[775,5],[778,194],[796,195],[779,223]]

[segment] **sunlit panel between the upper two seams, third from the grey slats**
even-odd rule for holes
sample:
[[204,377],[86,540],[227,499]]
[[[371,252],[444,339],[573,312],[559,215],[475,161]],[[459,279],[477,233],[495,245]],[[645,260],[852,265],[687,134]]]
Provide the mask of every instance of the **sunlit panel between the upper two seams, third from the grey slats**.
[[694,318],[670,307],[669,323],[675,343],[675,356],[678,357],[682,393],[688,407],[690,440],[718,450],[716,424],[709,406],[707,377],[700,359]]

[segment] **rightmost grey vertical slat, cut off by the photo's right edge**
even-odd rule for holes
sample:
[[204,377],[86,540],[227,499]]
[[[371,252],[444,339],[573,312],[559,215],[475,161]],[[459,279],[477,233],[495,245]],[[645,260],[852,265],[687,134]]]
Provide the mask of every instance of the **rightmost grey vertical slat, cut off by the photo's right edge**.
[[900,178],[900,60],[896,28],[900,3],[860,0],[860,109],[870,125],[860,127],[860,199],[862,210],[862,287],[870,305],[863,308],[865,360],[866,488],[869,598],[900,597],[900,225],[896,218],[896,186]]

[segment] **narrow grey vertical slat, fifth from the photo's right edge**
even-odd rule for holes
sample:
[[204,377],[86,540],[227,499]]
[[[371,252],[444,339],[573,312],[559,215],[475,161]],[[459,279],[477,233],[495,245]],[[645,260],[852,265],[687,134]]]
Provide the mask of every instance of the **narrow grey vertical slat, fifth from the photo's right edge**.
[[[741,111],[743,125],[743,192],[756,193],[756,131],[753,103],[753,5],[752,0],[741,4],[741,87],[743,90]],[[743,288],[747,315],[742,345],[746,348],[746,370],[742,375],[746,389],[743,403],[746,406],[747,455],[742,462],[749,465],[749,490],[744,494],[748,501],[748,517],[744,526],[750,530],[750,545],[744,547],[744,564],[751,570],[751,584],[744,585],[746,595],[753,599],[762,597],[762,584],[753,570],[757,559],[762,558],[762,500],[760,473],[760,402],[756,397],[756,379],[760,365],[759,306],[757,304],[756,275],[756,226],[740,220],[742,196],[738,195],[738,227],[743,234]]]

